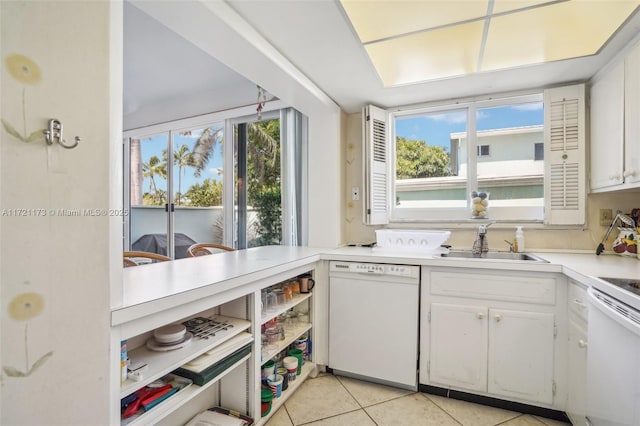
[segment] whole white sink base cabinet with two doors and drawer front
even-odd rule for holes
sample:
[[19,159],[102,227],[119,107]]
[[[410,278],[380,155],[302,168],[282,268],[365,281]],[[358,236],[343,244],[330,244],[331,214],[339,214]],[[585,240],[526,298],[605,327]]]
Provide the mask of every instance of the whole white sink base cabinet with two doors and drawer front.
[[[563,359],[554,274],[423,268],[420,383],[542,407],[555,398]],[[426,319],[426,320],[425,320]],[[566,338],[566,337],[565,337]],[[426,368],[425,368],[426,366]]]

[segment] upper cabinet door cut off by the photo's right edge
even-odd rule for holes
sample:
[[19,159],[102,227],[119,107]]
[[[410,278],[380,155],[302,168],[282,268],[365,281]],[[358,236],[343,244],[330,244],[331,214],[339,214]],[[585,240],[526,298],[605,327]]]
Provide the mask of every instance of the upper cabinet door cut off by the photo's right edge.
[[640,43],[625,58],[624,72],[624,181],[636,184],[640,182]]

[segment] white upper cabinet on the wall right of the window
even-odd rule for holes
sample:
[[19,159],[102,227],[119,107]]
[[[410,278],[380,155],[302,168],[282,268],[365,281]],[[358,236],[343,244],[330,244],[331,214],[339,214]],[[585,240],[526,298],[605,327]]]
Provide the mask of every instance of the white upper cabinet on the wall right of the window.
[[591,190],[640,186],[640,43],[591,85]]

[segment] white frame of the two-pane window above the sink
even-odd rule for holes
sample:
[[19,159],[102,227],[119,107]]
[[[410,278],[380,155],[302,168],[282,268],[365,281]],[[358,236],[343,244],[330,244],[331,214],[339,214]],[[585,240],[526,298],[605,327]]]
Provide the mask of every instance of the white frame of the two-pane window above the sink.
[[[388,177],[389,177],[389,222],[456,222],[456,223],[477,223],[477,219],[471,218],[471,200],[466,199],[466,206],[462,207],[397,207],[396,200],[396,129],[395,121],[397,118],[411,118],[423,116],[427,114],[447,113],[455,110],[466,110],[467,112],[467,143],[468,150],[468,176],[466,180],[467,193],[478,188],[477,176],[477,112],[480,109],[491,107],[502,107],[509,105],[518,105],[524,103],[541,102],[544,105],[543,90],[531,91],[524,94],[504,94],[492,96],[489,99],[471,99],[465,102],[452,102],[448,104],[425,104],[418,107],[408,107],[406,109],[398,108],[390,112],[389,116],[389,159]],[[543,119],[543,131],[546,123]],[[543,160],[545,161],[545,160]],[[546,178],[543,175],[544,184]],[[501,222],[529,222],[543,223],[544,217],[544,200],[540,206],[510,206],[510,207],[489,207],[490,221]]]

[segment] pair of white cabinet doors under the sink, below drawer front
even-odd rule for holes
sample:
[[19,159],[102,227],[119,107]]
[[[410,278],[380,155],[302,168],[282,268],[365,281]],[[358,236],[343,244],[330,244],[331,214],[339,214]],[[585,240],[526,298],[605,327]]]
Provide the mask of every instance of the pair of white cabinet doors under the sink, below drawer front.
[[553,314],[433,303],[430,381],[551,404],[553,334]]

